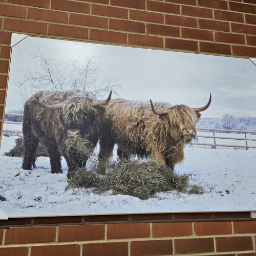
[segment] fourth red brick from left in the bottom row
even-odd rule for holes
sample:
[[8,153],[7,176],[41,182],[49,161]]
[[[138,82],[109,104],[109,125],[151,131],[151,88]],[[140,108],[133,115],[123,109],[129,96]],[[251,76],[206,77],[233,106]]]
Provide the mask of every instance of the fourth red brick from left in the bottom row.
[[132,241],[131,256],[173,254],[173,241]]

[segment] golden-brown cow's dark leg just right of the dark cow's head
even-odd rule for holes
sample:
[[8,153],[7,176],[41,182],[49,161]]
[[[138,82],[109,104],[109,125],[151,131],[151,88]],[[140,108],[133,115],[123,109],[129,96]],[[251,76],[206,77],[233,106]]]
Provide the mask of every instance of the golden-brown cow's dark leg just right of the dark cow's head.
[[105,174],[106,166],[112,157],[115,141],[112,134],[103,135],[99,142],[99,155],[97,172]]

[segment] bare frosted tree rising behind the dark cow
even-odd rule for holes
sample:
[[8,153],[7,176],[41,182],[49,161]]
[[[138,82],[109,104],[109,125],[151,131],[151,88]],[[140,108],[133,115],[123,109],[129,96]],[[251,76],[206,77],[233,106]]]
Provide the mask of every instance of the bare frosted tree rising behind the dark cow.
[[113,91],[117,94],[122,85],[112,77],[99,81],[101,74],[101,60],[104,56],[86,57],[83,62],[71,57],[66,62],[58,61],[55,57],[42,53],[42,46],[38,46],[36,53],[29,52],[29,57],[39,60],[39,67],[34,70],[27,68],[23,78],[15,82],[25,102],[38,91],[81,89],[93,92],[102,97],[104,92]]

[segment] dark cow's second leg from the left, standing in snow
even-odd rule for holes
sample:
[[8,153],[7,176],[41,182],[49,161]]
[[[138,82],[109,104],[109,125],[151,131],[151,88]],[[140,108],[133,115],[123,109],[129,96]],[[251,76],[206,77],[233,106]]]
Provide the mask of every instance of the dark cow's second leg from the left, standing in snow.
[[61,169],[61,155],[58,150],[57,144],[46,143],[47,151],[50,157],[51,172],[52,174],[62,174]]

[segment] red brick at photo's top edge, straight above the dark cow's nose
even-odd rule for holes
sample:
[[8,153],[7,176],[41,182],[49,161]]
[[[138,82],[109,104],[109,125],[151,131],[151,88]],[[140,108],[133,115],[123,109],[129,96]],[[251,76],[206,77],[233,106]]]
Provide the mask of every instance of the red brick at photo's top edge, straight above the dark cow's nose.
[[52,0],[51,9],[68,12],[89,13],[90,4],[67,0]]

